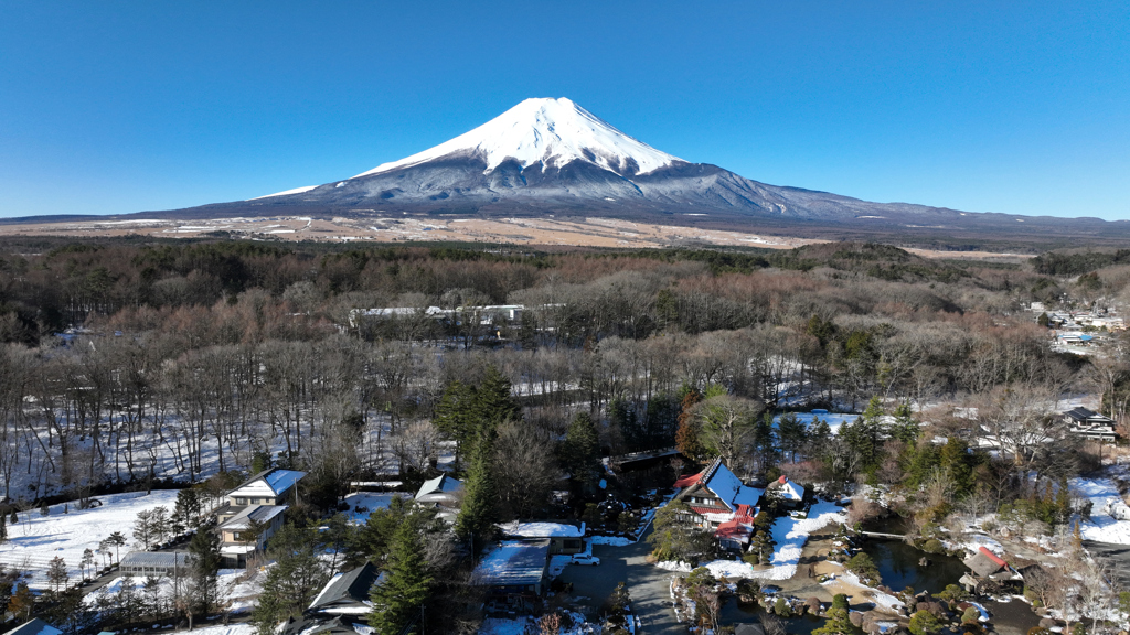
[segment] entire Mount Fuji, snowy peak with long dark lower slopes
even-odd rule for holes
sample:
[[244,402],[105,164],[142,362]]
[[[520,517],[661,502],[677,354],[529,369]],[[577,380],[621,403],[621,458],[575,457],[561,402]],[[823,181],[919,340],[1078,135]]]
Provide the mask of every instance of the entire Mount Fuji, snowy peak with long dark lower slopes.
[[158,214],[176,218],[553,215],[720,228],[807,228],[833,235],[941,230],[955,236],[985,232],[1046,236],[1064,227],[1072,234],[1096,235],[1125,225],[876,203],[768,185],[658,150],[567,98],[525,99],[450,141],[341,181]]

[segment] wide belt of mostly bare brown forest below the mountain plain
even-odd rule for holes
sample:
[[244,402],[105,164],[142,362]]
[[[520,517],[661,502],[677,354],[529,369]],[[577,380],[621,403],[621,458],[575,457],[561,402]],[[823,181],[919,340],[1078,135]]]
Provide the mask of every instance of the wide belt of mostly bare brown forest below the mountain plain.
[[[770,410],[858,409],[873,395],[1054,403],[1103,373],[1107,393],[1125,392],[1121,366],[1053,353],[1048,330],[1018,312],[1093,293],[1022,266],[883,245],[8,247],[0,477],[14,501],[192,481],[257,454],[313,469],[333,496],[349,475],[434,462],[442,392],[488,366],[513,383],[528,421],[560,435],[572,412],[589,411],[612,453],[671,445],[685,386],[722,385]],[[512,321],[424,311],[502,303],[528,308]],[[375,307],[409,311],[350,318]]]

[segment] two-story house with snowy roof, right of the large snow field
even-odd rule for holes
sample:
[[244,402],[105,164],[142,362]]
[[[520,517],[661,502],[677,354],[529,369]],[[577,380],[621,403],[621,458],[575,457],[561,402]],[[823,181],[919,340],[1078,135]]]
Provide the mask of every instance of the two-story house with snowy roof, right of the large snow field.
[[297,502],[296,486],[304,476],[296,470],[264,470],[227,494],[227,504],[216,512],[224,566],[245,567],[252,554],[263,550],[282,527],[287,507]]

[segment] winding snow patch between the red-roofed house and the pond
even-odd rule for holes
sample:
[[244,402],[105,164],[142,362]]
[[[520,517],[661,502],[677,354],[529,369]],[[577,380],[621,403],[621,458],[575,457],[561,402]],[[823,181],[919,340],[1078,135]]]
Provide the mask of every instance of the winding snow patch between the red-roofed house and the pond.
[[[828,523],[842,523],[846,520],[843,510],[835,503],[819,501],[808,512],[807,519],[780,517],[773,523],[773,539],[776,549],[773,551],[772,566],[757,571],[753,565],[741,560],[714,560],[703,566],[715,576],[758,577],[763,580],[789,580],[797,573],[800,554],[808,542],[808,536]],[[659,563],[669,571],[690,571],[686,563]]]

